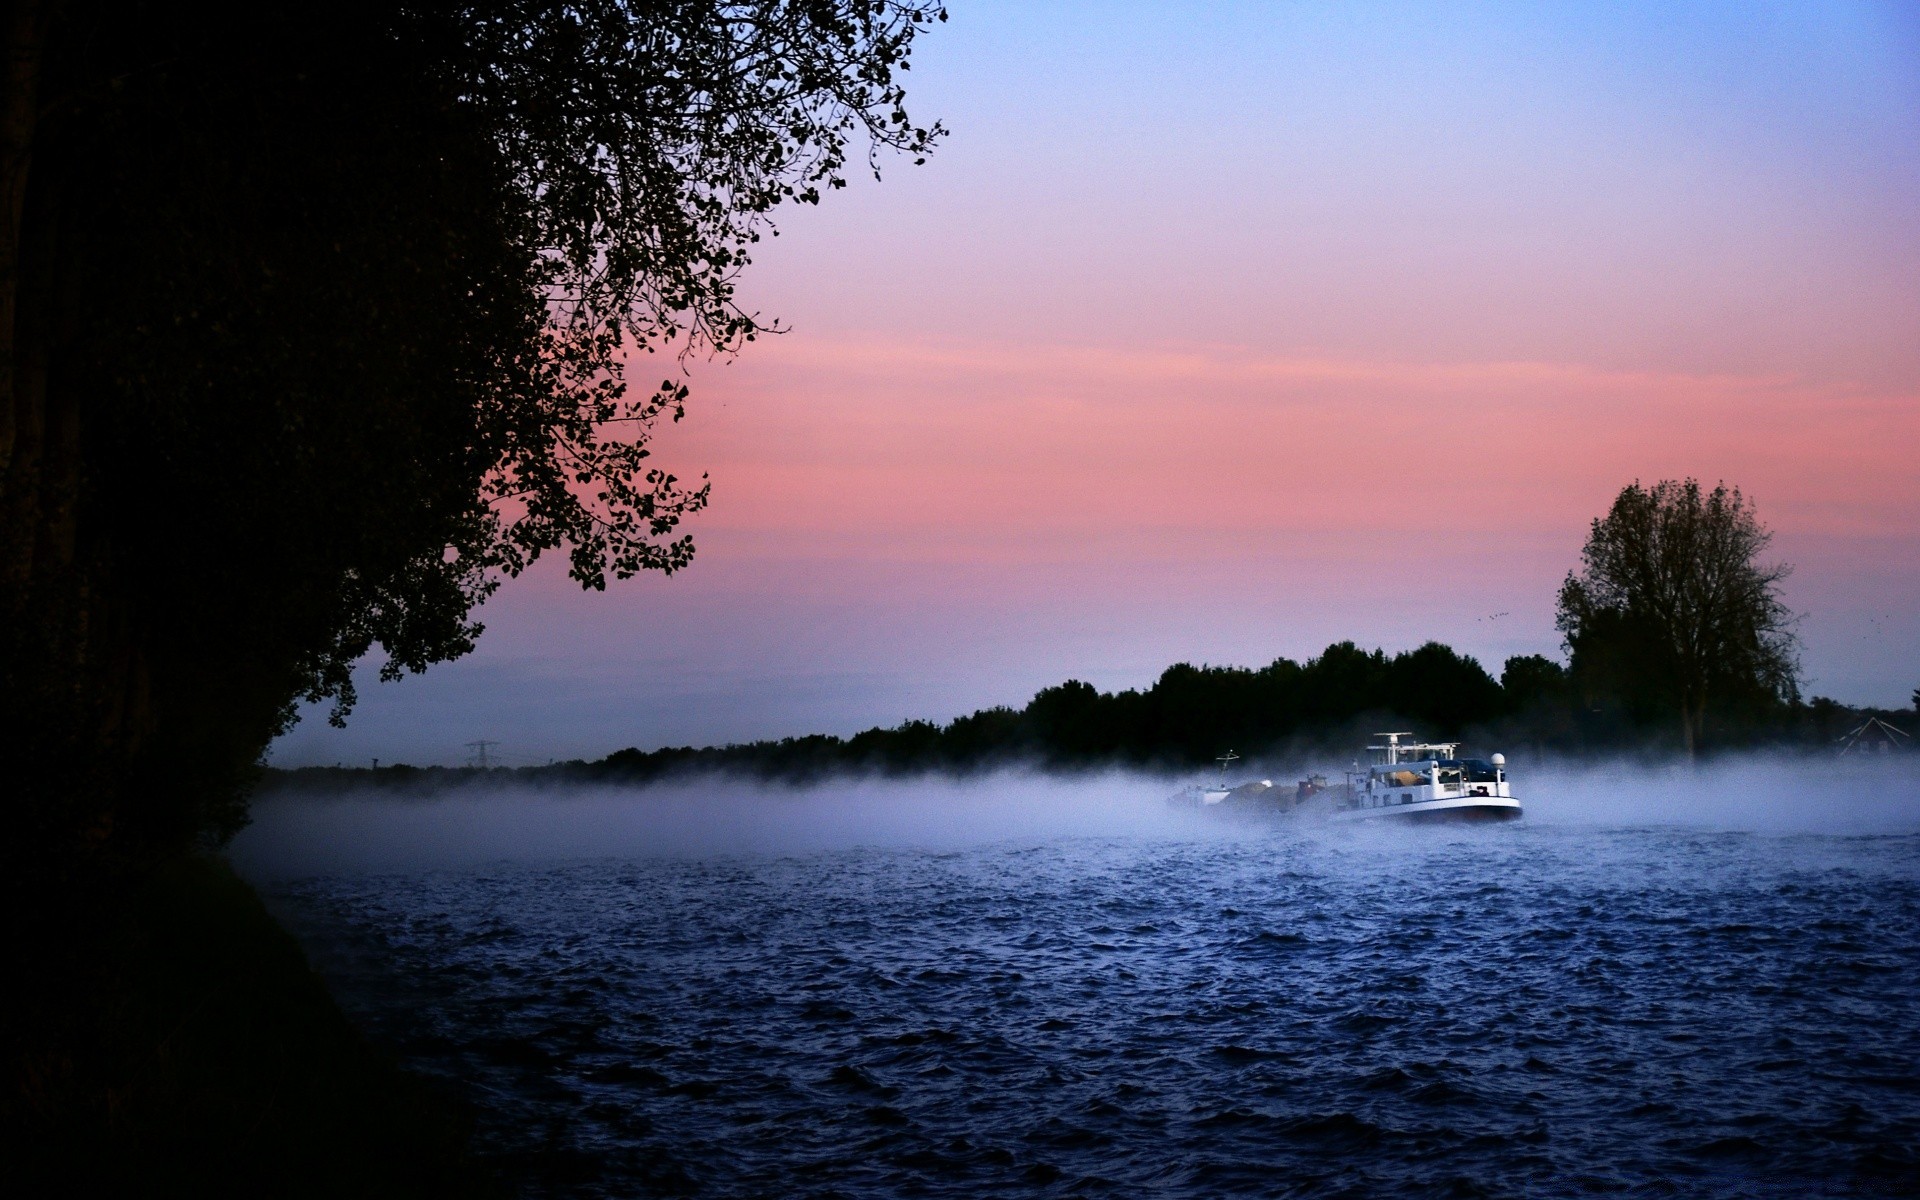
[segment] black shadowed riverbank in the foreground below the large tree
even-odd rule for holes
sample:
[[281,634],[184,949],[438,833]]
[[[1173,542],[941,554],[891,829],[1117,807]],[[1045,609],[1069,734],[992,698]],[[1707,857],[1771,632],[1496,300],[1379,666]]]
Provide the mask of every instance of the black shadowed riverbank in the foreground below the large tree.
[[42,950],[10,1194],[499,1196],[459,1102],[369,1044],[232,870],[188,856]]

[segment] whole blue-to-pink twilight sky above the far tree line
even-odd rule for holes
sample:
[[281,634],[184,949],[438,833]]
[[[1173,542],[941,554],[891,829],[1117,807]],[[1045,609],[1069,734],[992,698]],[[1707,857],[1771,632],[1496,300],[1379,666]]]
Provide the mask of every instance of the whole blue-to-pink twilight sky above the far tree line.
[[[1628,482],[1740,486],[1805,689],[1920,685],[1920,10],[987,4],[952,131],[780,217],[687,367],[672,578],[509,582],[271,762],[851,733],[1068,678],[1561,657]],[[666,361],[636,365],[636,378]]]

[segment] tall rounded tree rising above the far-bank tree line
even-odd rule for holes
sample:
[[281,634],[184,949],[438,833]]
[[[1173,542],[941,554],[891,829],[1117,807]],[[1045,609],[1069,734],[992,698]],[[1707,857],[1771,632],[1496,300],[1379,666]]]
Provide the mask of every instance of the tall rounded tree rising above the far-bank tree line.
[[1578,687],[1644,718],[1678,718],[1688,755],[1709,708],[1797,699],[1791,570],[1763,564],[1772,534],[1726,484],[1638,482],[1594,520],[1559,593]]

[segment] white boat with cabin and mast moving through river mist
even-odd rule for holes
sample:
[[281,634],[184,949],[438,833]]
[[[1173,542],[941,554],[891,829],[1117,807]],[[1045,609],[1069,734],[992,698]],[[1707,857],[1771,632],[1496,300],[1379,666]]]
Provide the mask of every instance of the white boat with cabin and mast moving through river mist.
[[1346,776],[1334,789],[1329,820],[1363,822],[1486,822],[1515,820],[1521,803],[1507,781],[1505,755],[1457,756],[1457,741],[1400,741],[1413,733],[1379,733],[1369,745],[1371,764]]

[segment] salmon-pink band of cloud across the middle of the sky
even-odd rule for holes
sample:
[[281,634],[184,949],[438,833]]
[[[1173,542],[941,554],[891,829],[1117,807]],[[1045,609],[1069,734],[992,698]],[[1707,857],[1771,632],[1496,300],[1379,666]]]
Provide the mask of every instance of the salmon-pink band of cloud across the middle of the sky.
[[703,396],[672,455],[722,478],[705,528],[904,559],[1185,561],[1277,534],[1423,553],[1580,530],[1622,482],[1682,474],[1797,534],[1920,511],[1920,397],[1786,376],[795,334]]

